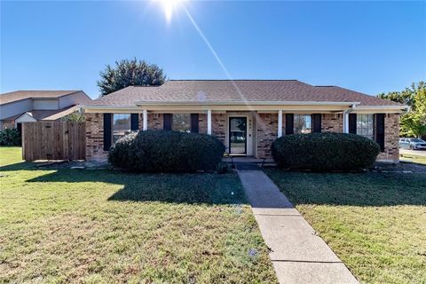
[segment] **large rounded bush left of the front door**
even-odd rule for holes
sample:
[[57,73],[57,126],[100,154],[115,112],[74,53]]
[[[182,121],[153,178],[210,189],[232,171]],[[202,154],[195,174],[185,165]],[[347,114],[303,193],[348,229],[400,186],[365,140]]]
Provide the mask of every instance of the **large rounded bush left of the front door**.
[[146,130],[118,139],[108,161],[135,172],[194,172],[216,170],[224,153],[225,146],[207,134]]

